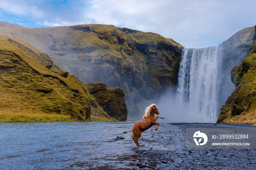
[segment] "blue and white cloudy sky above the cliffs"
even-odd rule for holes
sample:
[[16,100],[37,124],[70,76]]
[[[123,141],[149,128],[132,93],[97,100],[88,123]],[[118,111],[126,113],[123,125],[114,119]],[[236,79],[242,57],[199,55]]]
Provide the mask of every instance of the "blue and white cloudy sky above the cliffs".
[[1,0],[0,21],[29,28],[112,24],[203,48],[255,26],[255,7],[255,0]]

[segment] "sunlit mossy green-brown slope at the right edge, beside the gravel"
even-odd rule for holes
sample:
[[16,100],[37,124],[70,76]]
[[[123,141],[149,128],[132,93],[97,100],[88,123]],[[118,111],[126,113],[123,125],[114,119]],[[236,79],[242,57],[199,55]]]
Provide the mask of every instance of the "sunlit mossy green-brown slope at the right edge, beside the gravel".
[[217,123],[256,122],[256,53],[244,59],[231,71],[236,89],[221,107]]

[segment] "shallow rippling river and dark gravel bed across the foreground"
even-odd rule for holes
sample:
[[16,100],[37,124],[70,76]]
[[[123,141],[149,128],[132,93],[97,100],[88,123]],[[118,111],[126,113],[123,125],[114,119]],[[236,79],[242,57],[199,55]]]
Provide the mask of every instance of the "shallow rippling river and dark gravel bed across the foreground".
[[143,132],[143,146],[136,148],[130,136],[134,123],[0,123],[0,169],[255,169],[253,149],[185,148],[187,127],[233,125],[160,120],[158,131],[154,126]]

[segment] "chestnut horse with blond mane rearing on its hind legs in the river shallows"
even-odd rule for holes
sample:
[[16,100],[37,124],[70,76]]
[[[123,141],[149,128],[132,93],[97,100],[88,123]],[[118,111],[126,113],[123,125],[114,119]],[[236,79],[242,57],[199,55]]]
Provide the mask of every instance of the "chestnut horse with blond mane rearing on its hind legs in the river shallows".
[[157,109],[157,105],[151,104],[145,109],[145,115],[143,116],[143,119],[140,121],[137,121],[131,130],[131,137],[132,140],[135,142],[136,147],[140,147],[140,144],[138,143],[138,140],[141,136],[141,133],[151,128],[153,125],[157,125],[157,128],[155,131],[159,128],[159,123],[157,123],[157,119],[161,118],[164,119],[162,116],[155,117],[155,114],[159,115],[159,111]]

